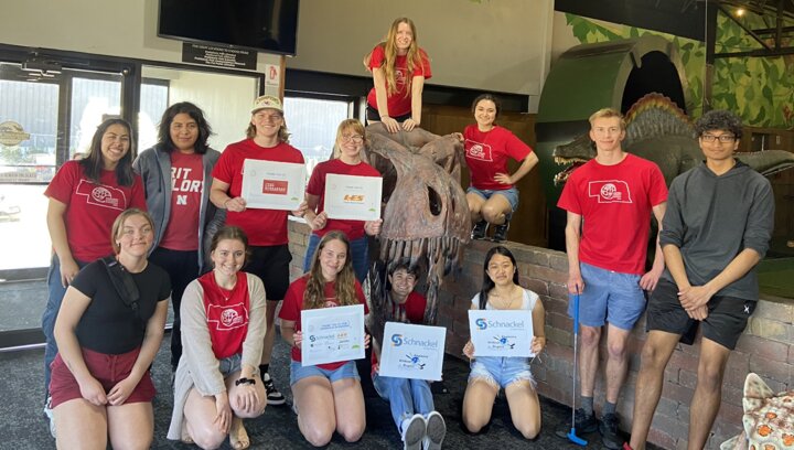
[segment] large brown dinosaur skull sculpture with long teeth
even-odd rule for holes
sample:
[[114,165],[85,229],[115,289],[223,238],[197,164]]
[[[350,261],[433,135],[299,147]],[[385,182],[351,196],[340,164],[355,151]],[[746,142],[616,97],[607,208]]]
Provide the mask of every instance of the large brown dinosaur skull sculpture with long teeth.
[[369,271],[373,314],[369,329],[383,336],[386,318],[378,307],[385,271],[407,258],[427,267],[425,322],[436,323],[442,277],[458,264],[469,243],[470,216],[460,184],[462,146],[457,135],[439,137],[422,129],[389,133],[383,124],[367,127],[364,159],[384,178],[380,260]]

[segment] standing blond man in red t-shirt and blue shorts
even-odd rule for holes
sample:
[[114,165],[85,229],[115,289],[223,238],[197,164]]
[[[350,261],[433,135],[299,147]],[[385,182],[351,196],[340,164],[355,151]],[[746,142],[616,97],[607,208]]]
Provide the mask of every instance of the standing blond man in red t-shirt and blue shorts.
[[[615,409],[629,365],[629,333],[645,310],[643,289],[653,290],[664,270],[657,245],[653,267],[645,272],[651,214],[661,224],[667,201],[659,168],[624,152],[624,138],[625,121],[616,110],[604,108],[590,116],[597,156],[571,174],[557,203],[568,212],[568,293],[581,296],[581,408],[576,410],[575,426],[581,432],[598,429],[610,449],[623,443]],[[573,313],[569,301],[568,314]],[[599,424],[593,390],[599,341],[607,323],[607,403]],[[557,433],[565,436],[569,430],[568,426]]]

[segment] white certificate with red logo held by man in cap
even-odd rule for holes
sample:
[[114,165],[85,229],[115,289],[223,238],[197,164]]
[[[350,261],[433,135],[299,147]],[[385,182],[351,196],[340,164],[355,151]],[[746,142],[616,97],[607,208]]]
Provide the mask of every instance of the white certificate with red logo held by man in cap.
[[243,199],[246,207],[298,210],[305,192],[305,165],[246,159],[243,162]]

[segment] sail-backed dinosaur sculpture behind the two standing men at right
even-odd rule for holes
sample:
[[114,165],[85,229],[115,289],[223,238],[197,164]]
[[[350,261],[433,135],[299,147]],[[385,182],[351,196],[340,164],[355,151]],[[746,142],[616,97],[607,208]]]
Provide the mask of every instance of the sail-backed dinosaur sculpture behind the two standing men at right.
[[[623,149],[655,162],[667,185],[704,159],[691,121],[669,98],[647,94],[629,109],[625,117]],[[596,158],[596,149],[586,133],[557,147],[552,156],[557,164],[570,164],[555,175],[555,184],[560,184],[579,165]],[[737,157],[765,176],[794,168],[794,153],[784,150],[742,152]]]

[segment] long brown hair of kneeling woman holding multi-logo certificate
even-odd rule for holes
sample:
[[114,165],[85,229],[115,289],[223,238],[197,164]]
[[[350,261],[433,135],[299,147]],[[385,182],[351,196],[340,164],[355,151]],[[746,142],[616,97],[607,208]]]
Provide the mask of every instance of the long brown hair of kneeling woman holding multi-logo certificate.
[[322,275],[322,267],[320,266],[320,255],[322,254],[325,245],[331,240],[339,240],[345,245],[347,250],[347,257],[342,270],[336,274],[336,281],[334,283],[334,297],[341,307],[350,304],[358,304],[358,298],[355,292],[355,272],[353,271],[353,257],[350,253],[350,240],[347,236],[340,231],[333,231],[328,233],[320,239],[318,249],[314,251],[312,257],[311,269],[307,277],[307,289],[303,292],[303,309],[319,309],[325,303],[325,277]]

